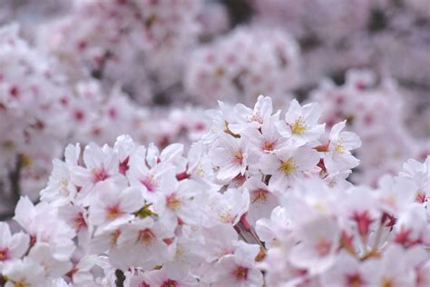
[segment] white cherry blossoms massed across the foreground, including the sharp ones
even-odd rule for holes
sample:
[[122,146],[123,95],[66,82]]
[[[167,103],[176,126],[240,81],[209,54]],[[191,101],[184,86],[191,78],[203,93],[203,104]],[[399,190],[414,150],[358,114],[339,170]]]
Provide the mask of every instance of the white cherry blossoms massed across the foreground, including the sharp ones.
[[210,132],[159,150],[120,136],[70,144],[40,193],[0,225],[6,286],[391,285],[430,282],[430,157],[376,189],[346,121],[269,97],[207,112]]

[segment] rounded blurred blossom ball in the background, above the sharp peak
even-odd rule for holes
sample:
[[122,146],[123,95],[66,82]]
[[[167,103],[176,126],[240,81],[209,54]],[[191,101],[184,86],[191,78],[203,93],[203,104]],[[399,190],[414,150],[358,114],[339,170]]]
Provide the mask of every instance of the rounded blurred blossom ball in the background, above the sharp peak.
[[241,27],[191,54],[185,89],[200,102],[252,104],[259,94],[282,98],[300,81],[298,44],[280,30]]

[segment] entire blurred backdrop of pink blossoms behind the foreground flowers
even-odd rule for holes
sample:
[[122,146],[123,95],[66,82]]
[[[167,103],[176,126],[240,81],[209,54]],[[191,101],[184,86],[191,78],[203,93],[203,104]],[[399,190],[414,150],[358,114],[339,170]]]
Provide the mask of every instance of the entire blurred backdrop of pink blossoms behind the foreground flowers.
[[0,25],[0,219],[67,143],[190,144],[218,100],[319,102],[356,183],[430,152],[428,0],[2,0]]

